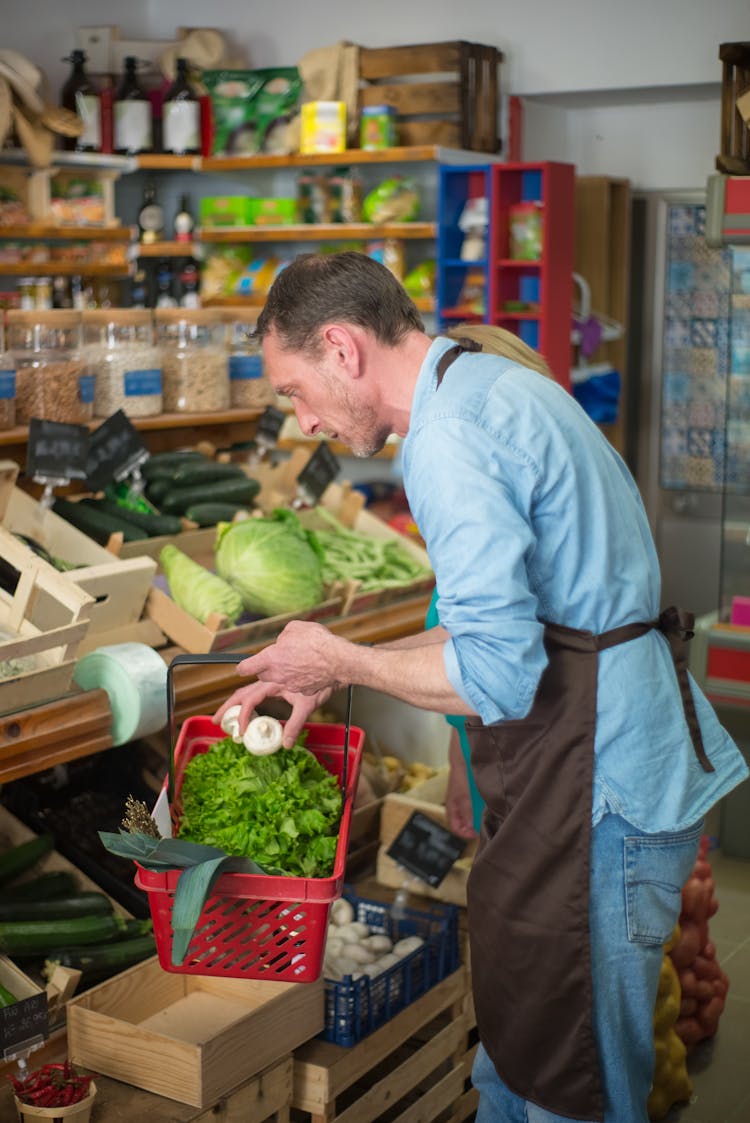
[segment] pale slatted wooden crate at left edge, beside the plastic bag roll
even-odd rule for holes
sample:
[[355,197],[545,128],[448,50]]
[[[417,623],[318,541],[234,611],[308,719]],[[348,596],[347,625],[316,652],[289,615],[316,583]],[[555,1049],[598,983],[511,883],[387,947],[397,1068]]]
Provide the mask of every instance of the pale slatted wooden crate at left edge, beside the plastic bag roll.
[[2,527],[0,558],[19,574],[12,596],[0,590],[0,713],[11,713],[67,693],[94,602]]

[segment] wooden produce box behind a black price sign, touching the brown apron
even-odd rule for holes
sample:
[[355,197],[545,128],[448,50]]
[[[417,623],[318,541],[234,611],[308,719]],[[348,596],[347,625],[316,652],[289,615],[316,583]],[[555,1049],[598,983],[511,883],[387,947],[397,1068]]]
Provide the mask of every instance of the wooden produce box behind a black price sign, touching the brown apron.
[[466,880],[476,853],[477,841],[467,842],[466,850],[452,868],[446,874],[437,888],[431,888],[427,882],[411,877],[404,869],[390,858],[386,850],[415,811],[421,811],[429,819],[440,823],[447,830],[446,789],[448,786],[448,769],[441,769],[436,776],[418,784],[410,792],[393,792],[386,795],[381,812],[381,847],[377,851],[376,877],[381,885],[401,888],[404,878],[409,877],[409,891],[419,893],[435,901],[446,901],[454,905],[466,905]]

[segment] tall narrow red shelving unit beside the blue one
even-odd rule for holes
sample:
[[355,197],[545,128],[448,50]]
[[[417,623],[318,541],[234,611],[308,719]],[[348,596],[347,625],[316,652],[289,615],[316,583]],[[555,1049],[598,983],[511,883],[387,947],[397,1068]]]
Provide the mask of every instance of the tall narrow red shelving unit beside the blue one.
[[[541,351],[570,389],[575,256],[575,166],[554,162],[493,164],[487,320]],[[511,208],[537,203],[539,256],[511,256]]]

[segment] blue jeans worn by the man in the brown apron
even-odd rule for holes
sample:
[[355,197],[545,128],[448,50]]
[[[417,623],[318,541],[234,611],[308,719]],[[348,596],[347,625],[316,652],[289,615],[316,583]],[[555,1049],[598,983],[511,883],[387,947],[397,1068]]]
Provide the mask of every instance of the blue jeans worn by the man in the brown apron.
[[[684,831],[646,834],[619,815],[605,815],[592,831],[594,1028],[604,1123],[648,1123],[662,944],[677,923],[702,830],[701,821]],[[476,1123],[578,1123],[512,1093],[482,1046],[472,1078],[479,1092]]]

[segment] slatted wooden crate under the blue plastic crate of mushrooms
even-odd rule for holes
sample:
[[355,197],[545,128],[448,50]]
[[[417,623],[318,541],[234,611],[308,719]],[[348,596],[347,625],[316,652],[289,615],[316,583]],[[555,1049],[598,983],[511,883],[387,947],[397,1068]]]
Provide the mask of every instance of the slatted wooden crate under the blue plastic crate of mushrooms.
[[387,1113],[388,1123],[458,1123],[452,1113],[465,1090],[466,993],[461,967],[351,1049],[321,1040],[296,1049],[292,1119],[375,1123]]

